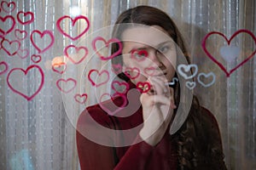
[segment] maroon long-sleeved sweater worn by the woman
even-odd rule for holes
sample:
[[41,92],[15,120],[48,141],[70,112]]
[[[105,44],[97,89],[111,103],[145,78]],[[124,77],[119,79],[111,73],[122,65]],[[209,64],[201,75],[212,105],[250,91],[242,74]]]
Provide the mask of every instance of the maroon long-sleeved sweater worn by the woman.
[[[111,100],[104,103],[109,110],[111,110]],[[122,105],[122,99],[113,99],[113,103],[116,105]],[[130,101],[139,102],[139,99]],[[134,103],[134,104],[135,104]],[[112,108],[113,109],[113,108]],[[205,110],[206,117],[209,122],[209,126],[217,129],[216,135],[211,135],[212,138],[219,138],[219,144],[221,140],[218,132],[218,124],[210,112]],[[92,119],[91,119],[92,118]],[[95,122],[92,122],[94,120]],[[126,130],[133,127],[142,125],[143,112],[140,107],[131,116],[119,117],[109,116],[108,113],[102,110],[100,105],[92,105],[82,112],[79,116],[77,123],[77,148],[79,153],[79,162],[82,170],[144,170],[144,169],[177,169],[177,154],[176,147],[172,141],[172,135],[169,134],[169,128],[160,140],[160,143],[151,146],[148,143],[140,139],[138,133],[140,128],[134,131],[134,133],[121,133],[121,135],[115,136],[113,133],[102,132],[101,127],[97,127],[96,124],[108,129]],[[88,135],[88,132],[92,132]],[[91,138],[90,138],[91,135]],[[89,138],[87,138],[89,136]],[[124,144],[124,141],[141,141],[136,144],[128,146],[114,147],[114,144]],[[99,142],[100,141],[100,142]],[[107,141],[107,144],[103,145],[101,141]],[[101,144],[99,144],[101,143]]]

